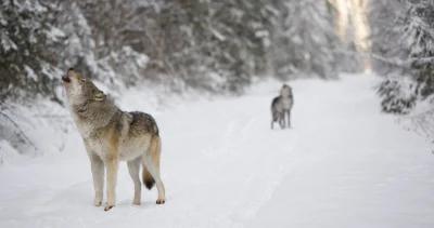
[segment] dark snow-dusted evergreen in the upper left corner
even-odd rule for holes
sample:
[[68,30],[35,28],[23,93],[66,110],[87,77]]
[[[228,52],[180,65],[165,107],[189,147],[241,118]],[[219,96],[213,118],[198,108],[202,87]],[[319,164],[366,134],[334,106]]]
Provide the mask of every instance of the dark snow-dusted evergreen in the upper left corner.
[[56,99],[56,51],[62,50],[65,39],[53,23],[58,13],[53,2],[0,3],[0,99],[26,94]]

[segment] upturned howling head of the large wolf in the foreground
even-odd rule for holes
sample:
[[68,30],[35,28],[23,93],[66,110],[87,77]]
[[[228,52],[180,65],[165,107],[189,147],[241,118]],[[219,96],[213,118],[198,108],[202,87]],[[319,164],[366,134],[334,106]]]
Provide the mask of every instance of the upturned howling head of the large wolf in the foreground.
[[105,94],[100,91],[89,79],[69,68],[62,77],[63,86],[71,104],[78,105],[86,102],[103,102]]

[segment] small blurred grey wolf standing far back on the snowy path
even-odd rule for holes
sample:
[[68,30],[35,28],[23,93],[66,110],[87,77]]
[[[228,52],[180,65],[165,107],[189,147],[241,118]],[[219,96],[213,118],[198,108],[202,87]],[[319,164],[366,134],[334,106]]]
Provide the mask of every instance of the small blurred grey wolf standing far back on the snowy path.
[[271,129],[273,129],[275,122],[280,124],[280,128],[285,128],[285,117],[288,121],[288,128],[291,128],[291,109],[294,105],[294,96],[292,89],[288,84],[283,84],[280,89],[280,96],[277,96],[271,102]]

